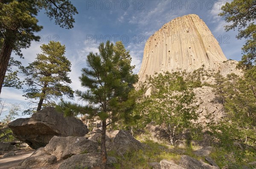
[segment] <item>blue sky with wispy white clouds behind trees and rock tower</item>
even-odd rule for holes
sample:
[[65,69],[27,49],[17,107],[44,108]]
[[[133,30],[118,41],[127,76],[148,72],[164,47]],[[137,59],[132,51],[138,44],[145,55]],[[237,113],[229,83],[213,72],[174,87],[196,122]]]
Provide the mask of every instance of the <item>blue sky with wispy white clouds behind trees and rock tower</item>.
[[[122,40],[130,51],[132,64],[136,65],[135,73],[140,69],[145,42],[165,23],[186,14],[197,14],[218,40],[227,59],[241,60],[241,47],[244,40],[236,39],[237,31],[224,30],[227,25],[218,14],[226,2],[220,0],[72,0],[79,14],[75,16],[73,29],[60,28],[50,21],[41,11],[38,15],[39,25],[43,25],[40,42],[32,42],[31,47],[23,49],[25,59],[19,59],[24,66],[33,62],[36,54],[41,52],[40,45],[49,40],[60,41],[66,46],[65,56],[72,63],[70,78],[73,90],[84,90],[78,77],[81,68],[86,66],[85,60],[89,52],[97,52],[101,42]],[[26,88],[26,86],[24,86]],[[0,119],[12,108],[12,104],[20,105],[24,110],[28,104],[22,96],[23,90],[3,87],[1,107],[6,110]],[[77,99],[75,99],[77,102]],[[23,116],[24,117],[24,116]]]

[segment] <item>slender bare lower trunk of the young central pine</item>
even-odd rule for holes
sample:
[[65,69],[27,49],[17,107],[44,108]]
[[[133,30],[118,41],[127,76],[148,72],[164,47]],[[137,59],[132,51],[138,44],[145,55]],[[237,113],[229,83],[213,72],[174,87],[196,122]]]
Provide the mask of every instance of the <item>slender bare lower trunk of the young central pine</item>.
[[101,141],[101,152],[102,152],[102,164],[101,169],[107,169],[107,150],[106,150],[106,120],[102,121],[102,141]]

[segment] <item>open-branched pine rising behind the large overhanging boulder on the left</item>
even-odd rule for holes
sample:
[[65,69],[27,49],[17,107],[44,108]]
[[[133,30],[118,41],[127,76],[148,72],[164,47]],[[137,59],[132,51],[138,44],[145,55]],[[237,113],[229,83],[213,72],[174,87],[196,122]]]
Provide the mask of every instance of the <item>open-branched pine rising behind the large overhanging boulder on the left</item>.
[[[37,54],[34,62],[23,68],[28,89],[24,90],[28,99],[39,99],[36,111],[47,105],[54,105],[54,100],[66,95],[73,98],[73,90],[68,86],[71,83],[67,76],[71,71],[71,63],[64,56],[65,46],[60,42],[50,41],[41,46],[42,54]],[[35,101],[32,101],[35,103]],[[45,103],[44,103],[45,102]],[[29,113],[26,111],[25,113]]]

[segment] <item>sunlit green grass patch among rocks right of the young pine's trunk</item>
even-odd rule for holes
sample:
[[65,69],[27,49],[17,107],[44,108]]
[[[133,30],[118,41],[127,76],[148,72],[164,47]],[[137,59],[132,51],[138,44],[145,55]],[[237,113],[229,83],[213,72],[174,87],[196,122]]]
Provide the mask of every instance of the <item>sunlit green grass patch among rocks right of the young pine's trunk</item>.
[[145,149],[126,152],[123,157],[116,155],[113,151],[108,152],[109,156],[115,157],[118,161],[118,163],[114,164],[114,167],[116,169],[150,169],[148,163],[159,163],[163,159],[178,164],[180,162],[181,155],[183,154],[189,155],[198,160],[204,159],[193,154],[193,151],[198,149],[198,147],[181,149],[166,144],[159,144],[150,140],[143,141],[142,143],[145,144]]

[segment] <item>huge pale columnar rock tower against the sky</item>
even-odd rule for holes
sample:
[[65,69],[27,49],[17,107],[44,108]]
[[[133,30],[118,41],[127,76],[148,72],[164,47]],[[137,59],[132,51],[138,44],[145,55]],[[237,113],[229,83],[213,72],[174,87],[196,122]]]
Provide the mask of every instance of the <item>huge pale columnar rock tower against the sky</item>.
[[[163,25],[147,40],[141,71],[143,75],[181,69],[192,71],[204,65],[205,70],[225,67],[218,41],[198,15],[177,17]],[[140,76],[143,80],[145,76]]]

